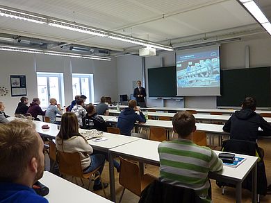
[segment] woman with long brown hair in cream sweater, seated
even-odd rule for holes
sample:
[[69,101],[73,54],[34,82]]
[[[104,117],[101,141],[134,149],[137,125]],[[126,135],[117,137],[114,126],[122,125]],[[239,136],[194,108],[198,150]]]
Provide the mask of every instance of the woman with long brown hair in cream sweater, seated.
[[[56,149],[61,152],[79,152],[81,157],[81,165],[83,173],[89,173],[99,166],[99,173],[101,174],[104,168],[104,155],[91,155],[92,147],[88,141],[79,134],[79,126],[77,116],[72,112],[63,114],[61,118],[60,131],[56,136]],[[106,188],[108,184],[104,184]],[[102,188],[100,179],[96,179],[93,190],[97,191]]]

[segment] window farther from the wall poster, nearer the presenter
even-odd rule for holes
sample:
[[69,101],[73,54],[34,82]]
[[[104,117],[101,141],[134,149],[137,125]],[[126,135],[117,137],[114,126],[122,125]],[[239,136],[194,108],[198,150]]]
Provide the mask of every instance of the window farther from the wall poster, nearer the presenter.
[[85,103],[94,102],[93,74],[72,74],[72,96],[85,95]]

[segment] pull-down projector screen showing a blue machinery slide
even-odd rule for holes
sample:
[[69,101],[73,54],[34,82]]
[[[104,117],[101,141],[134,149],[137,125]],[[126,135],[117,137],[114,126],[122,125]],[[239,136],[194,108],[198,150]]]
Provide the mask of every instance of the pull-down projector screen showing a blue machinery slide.
[[220,49],[206,46],[176,52],[178,96],[220,95]]

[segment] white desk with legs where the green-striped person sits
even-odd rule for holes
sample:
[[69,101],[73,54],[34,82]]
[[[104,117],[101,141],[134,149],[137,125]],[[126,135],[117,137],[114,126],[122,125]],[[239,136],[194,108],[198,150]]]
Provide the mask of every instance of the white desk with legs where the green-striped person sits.
[[[149,140],[138,140],[132,143],[128,143],[126,145],[119,146],[117,148],[110,149],[109,158],[113,160],[115,156],[122,156],[129,159],[136,159],[138,161],[142,161],[144,163],[153,164],[159,166],[159,155],[158,155],[158,144],[160,142],[157,141],[149,141]],[[139,150],[140,149],[140,150]],[[215,151],[217,154],[219,151]],[[238,157],[245,157],[246,160],[240,164],[237,168],[231,168],[229,166],[224,166],[224,168],[216,173],[210,173],[209,177],[211,179],[220,180],[223,182],[231,183],[236,185],[236,202],[242,202],[242,182],[245,177],[249,174],[250,171],[253,171],[253,182],[252,182],[252,202],[256,202],[256,176],[257,176],[257,160],[258,157],[252,157],[247,155],[238,155]],[[113,170],[113,168],[110,168]],[[110,173],[114,175],[113,173]],[[115,177],[110,177],[110,179],[114,179]],[[113,184],[113,183],[112,183]],[[113,201],[115,201],[115,191],[111,193],[111,197]]]

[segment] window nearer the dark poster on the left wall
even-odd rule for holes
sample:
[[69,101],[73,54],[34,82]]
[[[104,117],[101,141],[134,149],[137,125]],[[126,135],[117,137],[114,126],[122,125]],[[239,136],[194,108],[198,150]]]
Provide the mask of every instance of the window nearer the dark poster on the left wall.
[[50,98],[62,103],[63,73],[37,73],[37,80],[41,107],[48,107]]

